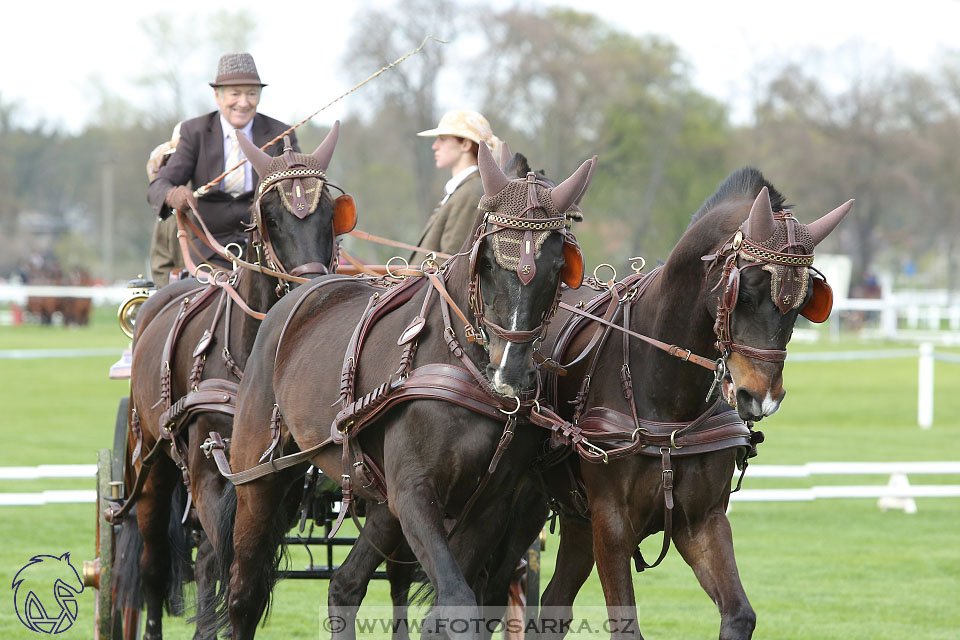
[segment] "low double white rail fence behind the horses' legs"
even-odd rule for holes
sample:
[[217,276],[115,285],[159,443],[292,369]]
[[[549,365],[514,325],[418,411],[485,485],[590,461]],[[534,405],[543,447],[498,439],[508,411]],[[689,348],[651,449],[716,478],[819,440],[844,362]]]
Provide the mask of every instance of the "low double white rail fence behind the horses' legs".
[[[95,464],[0,467],[0,481],[43,478],[82,479],[97,474]],[[910,475],[960,475],[960,462],[808,462],[802,465],[760,465],[747,467],[744,482],[753,478],[809,478],[811,476],[889,476],[886,485],[814,486],[801,489],[741,489],[730,495],[731,502],[808,502],[824,498],[873,498],[884,510],[902,509],[916,513],[915,498],[960,498],[960,484],[910,484]],[[85,484],[86,482],[84,482]],[[92,484],[92,483],[91,483]],[[35,493],[0,493],[0,506],[36,506],[55,503],[92,503],[94,489],[52,490]]]

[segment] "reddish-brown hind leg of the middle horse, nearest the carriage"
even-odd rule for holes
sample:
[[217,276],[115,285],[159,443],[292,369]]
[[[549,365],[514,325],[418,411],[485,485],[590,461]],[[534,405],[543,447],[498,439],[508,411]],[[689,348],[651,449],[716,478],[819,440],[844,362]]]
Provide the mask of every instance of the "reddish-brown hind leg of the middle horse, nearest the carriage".
[[277,550],[287,524],[287,483],[273,475],[238,485],[230,567],[229,611],[233,640],[253,638],[277,578]]

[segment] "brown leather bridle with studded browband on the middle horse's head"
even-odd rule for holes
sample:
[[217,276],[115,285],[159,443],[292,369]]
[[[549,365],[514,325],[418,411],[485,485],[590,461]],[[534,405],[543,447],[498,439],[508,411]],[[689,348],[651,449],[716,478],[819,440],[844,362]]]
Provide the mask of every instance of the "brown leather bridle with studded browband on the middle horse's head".
[[[524,210],[519,216],[511,216],[505,213],[488,211],[484,219],[484,223],[477,227],[476,238],[473,243],[473,249],[470,253],[470,307],[473,309],[473,314],[476,317],[476,326],[479,334],[475,335],[473,340],[484,346],[484,348],[486,348],[489,344],[489,340],[486,336],[484,328],[489,329],[500,339],[514,344],[533,342],[537,338],[543,336],[547,330],[549,319],[553,316],[557,309],[557,304],[560,302],[560,291],[563,280],[558,279],[557,290],[554,293],[553,303],[550,305],[550,308],[544,311],[543,316],[540,319],[540,324],[536,328],[528,331],[505,329],[492,320],[489,320],[483,312],[483,298],[480,293],[480,273],[477,269],[477,257],[483,241],[488,237],[496,237],[497,234],[501,234],[502,232],[508,230],[521,231],[523,233],[520,241],[520,258],[516,266],[517,276],[520,278],[520,282],[523,286],[529,284],[536,274],[536,247],[534,246],[535,242],[533,238],[533,234],[535,232],[541,233],[544,231],[559,231],[563,235],[564,243],[577,247],[577,251],[579,251],[579,245],[577,244],[576,238],[574,238],[573,234],[569,233],[566,229],[565,216],[560,215],[558,217],[549,218],[528,217],[532,215],[534,211],[543,209],[543,205],[540,203],[540,200],[537,197],[537,185],[547,189],[550,189],[551,186],[541,180],[537,180],[537,176],[533,172],[527,173],[525,183],[527,185],[527,203]],[[488,226],[492,226],[493,228],[487,230]],[[491,238],[491,240],[492,239],[493,238]],[[566,256],[566,253],[564,253],[564,256]],[[500,260],[498,257],[498,262],[499,261]],[[582,262],[580,263],[580,266],[582,268]],[[468,339],[469,338],[470,337],[468,336]]]

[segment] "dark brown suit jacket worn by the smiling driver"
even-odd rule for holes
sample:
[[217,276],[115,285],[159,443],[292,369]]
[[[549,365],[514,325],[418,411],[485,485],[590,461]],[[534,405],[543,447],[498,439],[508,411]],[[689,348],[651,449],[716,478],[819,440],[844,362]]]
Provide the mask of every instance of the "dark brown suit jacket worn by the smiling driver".
[[[288,126],[279,120],[258,113],[253,118],[253,142],[261,147],[287,128]],[[296,134],[291,133],[290,139],[294,149],[299,151]],[[281,140],[266,151],[271,156],[276,156],[282,149],[283,141]],[[180,125],[180,142],[177,144],[176,152],[170,156],[147,189],[147,202],[159,217],[169,216],[170,207],[164,203],[164,199],[170,189],[188,183],[193,189],[201,187],[223,173],[223,163],[223,128],[220,126],[220,112],[213,111],[198,118],[185,120]],[[253,182],[256,185],[256,171],[254,171]],[[240,246],[245,246],[246,233],[243,230],[243,224],[250,222],[253,191],[242,193],[234,198],[221,191],[217,185],[210,193],[200,198],[197,204],[200,216],[217,242],[222,245],[237,242]],[[201,250],[201,255],[192,256],[195,262],[199,264],[199,262],[213,260],[217,264],[229,266],[215,258],[213,252],[199,240],[194,239],[193,242]],[[244,257],[247,257],[246,250],[244,250]]]

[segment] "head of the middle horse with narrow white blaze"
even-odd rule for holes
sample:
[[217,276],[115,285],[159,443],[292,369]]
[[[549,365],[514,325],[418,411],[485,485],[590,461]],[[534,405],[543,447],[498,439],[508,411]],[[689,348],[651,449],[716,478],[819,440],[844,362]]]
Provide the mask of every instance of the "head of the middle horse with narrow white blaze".
[[583,278],[564,214],[582,197],[593,160],[555,187],[534,172],[511,180],[483,144],[478,164],[485,215],[470,256],[471,305],[490,356],[487,377],[497,392],[516,396],[534,386],[533,344],[556,309],[561,283],[577,287]]

